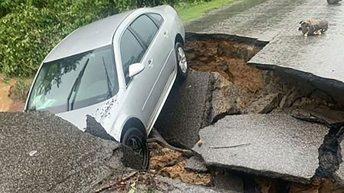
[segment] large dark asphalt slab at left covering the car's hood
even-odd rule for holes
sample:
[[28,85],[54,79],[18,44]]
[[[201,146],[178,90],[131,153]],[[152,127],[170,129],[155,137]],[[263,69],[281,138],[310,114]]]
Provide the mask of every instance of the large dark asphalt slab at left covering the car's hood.
[[90,192],[142,165],[129,147],[49,112],[0,113],[0,139],[0,192]]

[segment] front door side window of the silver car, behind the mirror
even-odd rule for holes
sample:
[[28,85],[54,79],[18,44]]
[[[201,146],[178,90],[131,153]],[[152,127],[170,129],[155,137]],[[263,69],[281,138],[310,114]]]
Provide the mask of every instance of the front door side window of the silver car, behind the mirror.
[[120,53],[122,58],[122,67],[126,84],[129,83],[129,66],[139,63],[145,50],[140,45],[136,37],[127,29],[120,42]]

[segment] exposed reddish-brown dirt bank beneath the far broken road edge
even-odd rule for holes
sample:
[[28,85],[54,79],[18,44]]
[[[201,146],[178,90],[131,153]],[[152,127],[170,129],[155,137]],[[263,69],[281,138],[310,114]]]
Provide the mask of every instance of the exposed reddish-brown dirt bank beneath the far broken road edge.
[[[203,36],[190,37],[185,52],[192,69],[213,73],[213,122],[225,115],[291,112],[311,106],[312,109],[324,106],[336,111],[335,114],[342,111],[330,95],[307,80],[247,65],[246,62],[263,48],[262,44]],[[321,119],[321,115],[318,118]],[[344,120],[344,115],[337,120]]]

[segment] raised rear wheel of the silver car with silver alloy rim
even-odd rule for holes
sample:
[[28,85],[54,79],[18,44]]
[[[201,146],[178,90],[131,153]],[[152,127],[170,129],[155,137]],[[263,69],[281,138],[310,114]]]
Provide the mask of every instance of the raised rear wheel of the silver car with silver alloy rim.
[[184,80],[187,75],[187,71],[189,71],[189,68],[187,66],[186,56],[184,52],[183,44],[180,42],[177,42],[174,46],[175,50],[175,57],[177,60],[177,78]]

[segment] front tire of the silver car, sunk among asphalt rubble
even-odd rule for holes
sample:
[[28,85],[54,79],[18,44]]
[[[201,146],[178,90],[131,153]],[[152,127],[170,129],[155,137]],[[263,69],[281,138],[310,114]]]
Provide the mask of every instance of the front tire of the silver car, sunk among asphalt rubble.
[[149,148],[145,134],[136,127],[130,127],[124,134],[122,143],[142,156],[142,169],[147,170],[149,167]]

